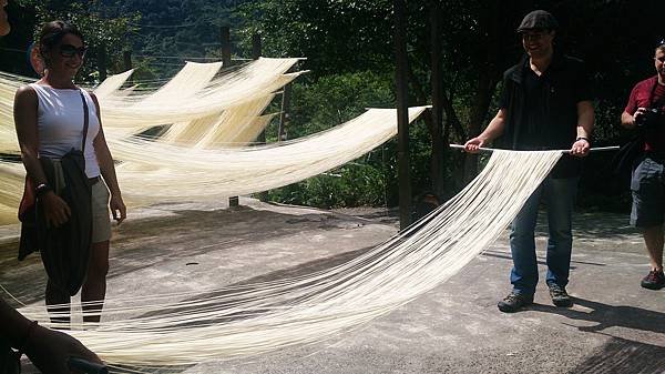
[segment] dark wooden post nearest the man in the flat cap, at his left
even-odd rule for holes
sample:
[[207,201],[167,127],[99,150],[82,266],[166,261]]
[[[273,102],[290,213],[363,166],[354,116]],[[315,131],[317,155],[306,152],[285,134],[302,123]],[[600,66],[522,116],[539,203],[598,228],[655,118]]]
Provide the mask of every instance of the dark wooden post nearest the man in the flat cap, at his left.
[[448,144],[443,144],[443,105],[441,95],[441,1],[430,2],[431,53],[432,53],[432,189],[437,196],[443,196],[443,152]]

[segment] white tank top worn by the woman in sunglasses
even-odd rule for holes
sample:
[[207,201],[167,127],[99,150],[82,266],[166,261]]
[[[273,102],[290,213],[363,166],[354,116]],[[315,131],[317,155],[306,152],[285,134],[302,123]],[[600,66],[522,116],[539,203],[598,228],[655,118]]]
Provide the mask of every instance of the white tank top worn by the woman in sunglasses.
[[100,165],[94,154],[92,141],[100,131],[94,101],[85,90],[54,89],[31,83],[37,92],[37,131],[39,154],[60,159],[71,149],[81,149],[83,141],[83,102],[81,91],[88,102],[88,137],[85,138],[85,174],[88,178],[100,175]]

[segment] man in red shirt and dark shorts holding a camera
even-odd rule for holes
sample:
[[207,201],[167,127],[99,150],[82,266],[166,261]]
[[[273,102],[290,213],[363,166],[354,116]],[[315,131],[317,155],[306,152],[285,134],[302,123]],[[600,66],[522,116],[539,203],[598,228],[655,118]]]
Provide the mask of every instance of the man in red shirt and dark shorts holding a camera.
[[621,123],[637,128],[644,141],[641,162],[633,171],[631,224],[640,228],[651,260],[642,280],[649,290],[665,287],[663,275],[663,222],[665,221],[665,39],[656,47],[657,74],[635,85]]

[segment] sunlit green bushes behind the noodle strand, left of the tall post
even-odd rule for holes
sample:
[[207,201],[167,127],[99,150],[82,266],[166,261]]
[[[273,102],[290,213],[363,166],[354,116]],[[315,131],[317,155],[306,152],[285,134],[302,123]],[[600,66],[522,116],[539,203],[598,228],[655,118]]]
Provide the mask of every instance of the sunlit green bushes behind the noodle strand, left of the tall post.
[[[290,139],[328,130],[366,108],[393,105],[392,79],[371,71],[334,74],[293,85],[293,105],[287,128]],[[276,123],[266,131],[276,134]],[[269,139],[275,141],[276,139]],[[381,158],[381,150],[337,170],[268,193],[270,200],[320,208],[381,205],[395,178]]]

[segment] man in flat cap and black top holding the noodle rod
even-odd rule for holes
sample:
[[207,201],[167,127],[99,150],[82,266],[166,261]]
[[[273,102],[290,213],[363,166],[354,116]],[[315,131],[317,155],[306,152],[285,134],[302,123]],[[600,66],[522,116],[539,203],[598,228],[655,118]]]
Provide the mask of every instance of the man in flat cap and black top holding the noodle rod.
[[516,312],[533,302],[538,284],[534,230],[538,208],[548,208],[548,275],[550,296],[556,306],[569,307],[572,213],[581,160],[589,153],[594,113],[589,77],[582,61],[554,51],[559,23],[544,10],[524,17],[518,28],[526,54],[503,74],[499,112],[488,128],[464,145],[478,152],[494,139],[511,150],[570,150],[533,192],[511,224],[512,292],[498,304]]

